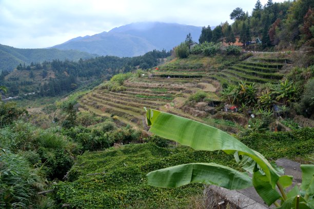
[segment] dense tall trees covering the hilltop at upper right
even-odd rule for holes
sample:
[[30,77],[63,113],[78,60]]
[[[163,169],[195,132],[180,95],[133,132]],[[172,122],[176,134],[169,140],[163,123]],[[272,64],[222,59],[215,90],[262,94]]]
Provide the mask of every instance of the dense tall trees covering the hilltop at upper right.
[[[200,43],[205,41],[219,42],[223,39],[226,43],[234,43],[235,38],[243,45],[249,45],[249,41],[257,41],[252,45],[253,49],[263,50],[265,48],[295,49],[304,43],[312,46],[314,37],[313,28],[313,1],[293,1],[273,3],[271,0],[266,5],[257,1],[251,15],[245,13],[242,8],[235,8],[230,13],[230,19],[234,22],[222,23],[213,30],[203,27],[199,38]],[[259,44],[261,40],[261,44]]]

